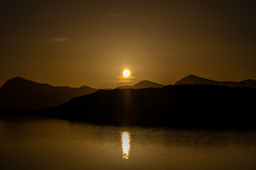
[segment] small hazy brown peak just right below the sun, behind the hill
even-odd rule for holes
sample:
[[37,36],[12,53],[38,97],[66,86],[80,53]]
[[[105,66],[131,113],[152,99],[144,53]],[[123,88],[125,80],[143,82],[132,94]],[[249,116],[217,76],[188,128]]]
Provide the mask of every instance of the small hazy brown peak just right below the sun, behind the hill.
[[134,84],[133,86],[118,86],[117,89],[146,89],[146,88],[161,88],[164,87],[162,84],[157,84],[152,81],[142,80],[139,83]]

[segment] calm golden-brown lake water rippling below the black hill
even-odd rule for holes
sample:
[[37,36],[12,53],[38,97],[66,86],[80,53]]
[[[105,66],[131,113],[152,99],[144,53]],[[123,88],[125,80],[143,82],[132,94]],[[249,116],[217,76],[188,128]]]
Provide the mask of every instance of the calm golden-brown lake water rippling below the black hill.
[[0,169],[256,169],[256,132],[0,118]]

